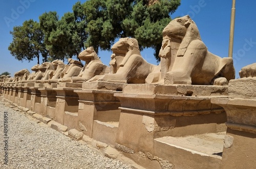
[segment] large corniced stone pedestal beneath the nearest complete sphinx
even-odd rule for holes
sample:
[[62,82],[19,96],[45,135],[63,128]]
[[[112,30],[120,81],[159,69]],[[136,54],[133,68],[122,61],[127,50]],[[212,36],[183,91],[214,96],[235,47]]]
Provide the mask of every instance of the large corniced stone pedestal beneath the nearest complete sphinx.
[[224,109],[210,103],[225,95],[227,86],[126,84],[114,94],[121,103],[116,148],[138,161],[141,152],[156,153],[155,138],[225,131]]

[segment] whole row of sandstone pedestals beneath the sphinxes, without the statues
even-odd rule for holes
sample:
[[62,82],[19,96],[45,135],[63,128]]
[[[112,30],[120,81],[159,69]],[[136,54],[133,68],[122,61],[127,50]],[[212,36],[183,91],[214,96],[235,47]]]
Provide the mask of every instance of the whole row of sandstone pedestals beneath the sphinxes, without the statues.
[[255,84],[13,83],[2,97],[146,168],[253,168]]

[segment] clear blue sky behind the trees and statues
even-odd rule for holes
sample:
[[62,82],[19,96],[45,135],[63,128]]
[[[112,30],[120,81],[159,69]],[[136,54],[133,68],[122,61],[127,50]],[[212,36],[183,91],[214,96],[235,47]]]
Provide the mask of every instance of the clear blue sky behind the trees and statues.
[[[9,33],[14,26],[21,26],[25,20],[33,19],[49,11],[57,11],[59,17],[66,12],[72,12],[72,6],[77,0],[11,0],[0,1],[0,74],[4,71],[11,76],[20,69],[31,67],[34,61],[18,61],[8,51],[12,42]],[[82,3],[85,1],[81,1]],[[230,13],[232,0],[181,0],[181,6],[172,14],[172,18],[190,15],[196,22],[203,42],[211,53],[220,57],[228,57]],[[245,65],[256,62],[256,1],[237,0],[236,22],[234,30],[233,60],[238,71]],[[16,15],[15,15],[16,13]],[[7,19],[12,19],[7,21]],[[142,57],[152,64],[157,64],[152,49],[141,52]],[[99,52],[102,62],[109,65],[111,53]],[[41,62],[41,58],[40,58]]]

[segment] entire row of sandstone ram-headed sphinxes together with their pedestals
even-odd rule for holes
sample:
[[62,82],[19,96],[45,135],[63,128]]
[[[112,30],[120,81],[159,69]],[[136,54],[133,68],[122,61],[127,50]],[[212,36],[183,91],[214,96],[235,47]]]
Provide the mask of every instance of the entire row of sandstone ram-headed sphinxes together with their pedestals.
[[256,63],[232,80],[232,58],[209,53],[189,16],[163,30],[159,66],[141,57],[134,38],[112,51],[110,68],[89,47],[79,55],[83,68],[56,60],[0,77],[2,97],[106,156],[122,153],[146,168],[256,165]]

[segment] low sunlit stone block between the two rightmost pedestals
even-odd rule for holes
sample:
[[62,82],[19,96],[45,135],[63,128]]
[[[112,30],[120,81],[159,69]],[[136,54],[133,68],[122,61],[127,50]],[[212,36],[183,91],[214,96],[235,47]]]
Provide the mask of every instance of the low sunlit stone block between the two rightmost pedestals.
[[220,168],[225,133],[154,139],[154,155],[175,168]]

